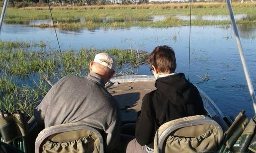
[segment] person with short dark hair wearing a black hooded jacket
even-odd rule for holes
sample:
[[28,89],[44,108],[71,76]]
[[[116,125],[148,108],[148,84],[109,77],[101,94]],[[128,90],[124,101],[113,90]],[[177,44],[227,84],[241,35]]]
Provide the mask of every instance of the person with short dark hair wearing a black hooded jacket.
[[127,153],[153,153],[155,131],[165,122],[193,115],[206,114],[197,88],[183,73],[175,73],[174,50],[158,46],[149,56],[156,81],[156,90],[147,93],[136,122],[136,139]]

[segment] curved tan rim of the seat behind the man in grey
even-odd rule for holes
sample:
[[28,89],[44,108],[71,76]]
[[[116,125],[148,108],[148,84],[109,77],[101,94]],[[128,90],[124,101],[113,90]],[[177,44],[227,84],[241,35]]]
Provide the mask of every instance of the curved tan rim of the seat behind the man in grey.
[[90,130],[91,132],[94,132],[98,136],[99,143],[100,143],[100,153],[104,153],[103,138],[101,136],[101,133],[98,130],[96,130],[93,127],[89,127],[83,123],[70,124],[70,125],[68,125],[68,123],[67,123],[67,124],[63,124],[63,125],[65,125],[65,127],[62,127],[62,125],[58,125],[58,127],[53,126],[51,129],[44,131],[44,133],[41,136],[37,137],[36,144],[35,144],[35,153],[39,153],[40,146],[41,146],[42,142],[48,136],[51,136],[51,135],[57,134],[57,133],[83,130],[83,129]]

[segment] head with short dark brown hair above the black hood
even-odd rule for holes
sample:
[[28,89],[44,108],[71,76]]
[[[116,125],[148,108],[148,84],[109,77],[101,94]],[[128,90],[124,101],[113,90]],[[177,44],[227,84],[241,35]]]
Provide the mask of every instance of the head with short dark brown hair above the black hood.
[[162,73],[174,73],[177,66],[174,49],[166,45],[155,47],[149,55],[149,61]]

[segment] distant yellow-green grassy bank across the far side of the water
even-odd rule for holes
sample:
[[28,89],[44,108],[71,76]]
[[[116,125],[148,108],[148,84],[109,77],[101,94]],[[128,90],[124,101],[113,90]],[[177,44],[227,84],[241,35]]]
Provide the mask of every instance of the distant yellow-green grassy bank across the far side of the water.
[[[232,3],[235,14],[254,15],[256,2]],[[228,15],[226,3],[194,2],[192,15]],[[189,15],[189,3],[107,5],[86,7],[53,7],[56,25],[63,29],[82,27],[170,27],[188,25],[188,21],[175,18],[175,15]],[[33,14],[33,16],[31,16]],[[164,16],[161,21],[153,21],[153,16]],[[47,7],[8,8],[5,22],[27,24],[30,20],[50,19]],[[193,20],[192,25],[227,25],[229,21]],[[256,25],[256,17],[238,21],[239,24]],[[52,25],[36,25],[51,27]]]

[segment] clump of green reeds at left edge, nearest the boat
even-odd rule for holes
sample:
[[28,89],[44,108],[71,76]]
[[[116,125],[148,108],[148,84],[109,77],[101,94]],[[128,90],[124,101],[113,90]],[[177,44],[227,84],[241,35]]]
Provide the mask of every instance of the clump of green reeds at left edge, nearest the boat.
[[22,110],[29,116],[33,116],[35,106],[46,95],[49,86],[40,80],[33,87],[18,85],[10,76],[0,77],[0,107],[9,112]]

